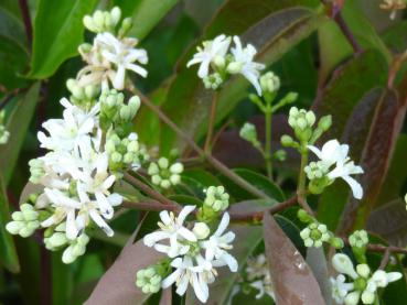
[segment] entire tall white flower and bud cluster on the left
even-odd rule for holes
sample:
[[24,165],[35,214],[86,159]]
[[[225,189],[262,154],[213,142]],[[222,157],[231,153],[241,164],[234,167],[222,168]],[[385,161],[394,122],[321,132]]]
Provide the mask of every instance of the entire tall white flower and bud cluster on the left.
[[[13,213],[13,220],[7,226],[9,232],[22,237],[45,228],[46,248],[64,249],[65,263],[85,253],[89,225],[101,228],[109,237],[114,235],[107,222],[122,196],[113,192],[113,186],[124,171],[140,167],[139,143],[137,134],[131,132],[139,98],[131,97],[126,102],[122,94],[108,89],[107,83],[100,94],[104,79],[94,77],[100,73],[111,76],[114,87],[120,89],[125,66],[115,56],[125,61],[127,56],[144,53],[132,50],[132,42],[127,39],[119,41],[114,36],[120,15],[120,10],[115,8],[85,17],[85,25],[98,33],[86,53],[85,59],[92,58],[85,68],[88,73],[81,70],[76,79],[67,81],[72,95],[71,100],[61,99],[63,118],[42,124],[44,131],[38,133],[38,139],[49,152],[29,162],[30,181],[42,190],[31,195],[31,203],[21,205],[21,211]],[[120,37],[126,32],[124,26]],[[79,47],[84,48],[84,45]],[[103,63],[104,69],[94,66],[93,61]]]

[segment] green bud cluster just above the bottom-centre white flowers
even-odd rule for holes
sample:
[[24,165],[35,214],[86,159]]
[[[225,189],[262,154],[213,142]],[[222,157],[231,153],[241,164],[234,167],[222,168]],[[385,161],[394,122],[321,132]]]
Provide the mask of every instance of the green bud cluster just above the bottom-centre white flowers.
[[225,187],[210,186],[205,190],[206,197],[202,208],[197,213],[197,219],[211,222],[218,218],[219,214],[229,206],[229,194],[225,192]]

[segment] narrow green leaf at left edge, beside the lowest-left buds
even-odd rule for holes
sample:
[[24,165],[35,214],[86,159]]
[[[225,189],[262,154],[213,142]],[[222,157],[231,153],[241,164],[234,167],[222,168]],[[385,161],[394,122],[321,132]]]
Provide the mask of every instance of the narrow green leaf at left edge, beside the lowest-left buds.
[[6,225],[9,220],[9,203],[4,185],[0,178],[0,261],[7,270],[17,273],[20,271],[19,258],[17,257],[13,238],[6,230]]

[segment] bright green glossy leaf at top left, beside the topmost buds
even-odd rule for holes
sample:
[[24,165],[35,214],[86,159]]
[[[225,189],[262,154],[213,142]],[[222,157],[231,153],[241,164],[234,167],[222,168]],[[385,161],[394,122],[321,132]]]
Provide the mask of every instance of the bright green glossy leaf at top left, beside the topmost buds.
[[84,34],[82,19],[96,3],[97,0],[38,1],[29,77],[46,78],[77,54]]

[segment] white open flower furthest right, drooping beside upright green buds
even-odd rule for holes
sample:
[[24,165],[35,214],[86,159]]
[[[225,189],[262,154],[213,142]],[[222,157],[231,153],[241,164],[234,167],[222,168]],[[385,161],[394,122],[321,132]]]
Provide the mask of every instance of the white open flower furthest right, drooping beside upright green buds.
[[352,188],[353,196],[356,199],[363,197],[363,188],[351,175],[363,174],[363,168],[354,164],[347,156],[349,145],[340,144],[338,140],[330,140],[323,146],[322,150],[313,145],[308,146],[326,167],[335,165],[333,170],[328,173],[328,177],[331,181],[335,178],[343,178]]

